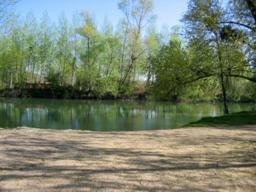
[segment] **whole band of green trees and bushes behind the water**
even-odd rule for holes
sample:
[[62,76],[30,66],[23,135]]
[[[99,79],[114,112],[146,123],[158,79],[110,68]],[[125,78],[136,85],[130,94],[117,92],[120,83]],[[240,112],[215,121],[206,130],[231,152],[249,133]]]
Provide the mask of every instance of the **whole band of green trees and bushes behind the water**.
[[161,31],[152,0],[120,0],[115,27],[89,11],[22,19],[15,3],[0,5],[1,96],[224,101],[226,113],[256,101],[254,1],[190,0],[182,26]]

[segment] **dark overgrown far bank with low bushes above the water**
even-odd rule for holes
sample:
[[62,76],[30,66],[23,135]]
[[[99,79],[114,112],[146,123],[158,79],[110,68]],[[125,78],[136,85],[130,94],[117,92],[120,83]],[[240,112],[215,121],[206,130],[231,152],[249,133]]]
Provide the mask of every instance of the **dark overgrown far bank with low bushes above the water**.
[[[156,99],[150,91],[146,91],[142,87],[134,87],[129,90],[119,90],[118,93],[99,92],[99,91],[81,91],[73,86],[49,86],[47,84],[31,84],[31,87],[23,86],[23,88],[0,89],[0,97],[12,98],[46,98],[46,99],[122,99],[122,100],[154,100]],[[170,97],[162,101],[182,101],[182,102],[222,102],[222,97],[215,99],[191,98],[180,95],[180,97]],[[254,97],[241,96],[239,100],[232,97],[227,98],[227,101],[240,103],[255,103]]]

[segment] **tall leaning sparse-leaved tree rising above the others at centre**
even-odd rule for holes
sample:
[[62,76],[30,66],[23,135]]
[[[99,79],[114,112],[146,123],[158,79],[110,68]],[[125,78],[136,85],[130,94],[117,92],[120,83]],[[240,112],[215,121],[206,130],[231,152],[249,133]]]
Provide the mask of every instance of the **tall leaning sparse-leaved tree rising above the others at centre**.
[[128,34],[129,46],[128,65],[120,82],[120,85],[124,85],[129,80],[132,70],[134,71],[133,79],[135,78],[137,60],[145,52],[141,35],[145,27],[154,21],[156,16],[153,14],[154,5],[152,0],[122,0],[118,6],[124,12],[126,18],[127,32],[125,35]]

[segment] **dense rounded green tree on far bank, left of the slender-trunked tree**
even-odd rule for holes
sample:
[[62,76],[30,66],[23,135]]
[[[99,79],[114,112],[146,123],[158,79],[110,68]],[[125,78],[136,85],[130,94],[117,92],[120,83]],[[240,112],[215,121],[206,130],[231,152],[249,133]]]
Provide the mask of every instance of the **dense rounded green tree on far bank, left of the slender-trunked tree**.
[[182,94],[188,75],[187,57],[182,39],[174,29],[169,44],[162,45],[158,54],[151,57],[154,68],[152,89],[156,99],[175,100]]

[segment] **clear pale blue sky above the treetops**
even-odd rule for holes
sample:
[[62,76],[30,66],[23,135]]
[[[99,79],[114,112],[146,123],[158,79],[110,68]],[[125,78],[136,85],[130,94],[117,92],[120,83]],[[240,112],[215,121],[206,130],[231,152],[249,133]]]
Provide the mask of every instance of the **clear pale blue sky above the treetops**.
[[[45,10],[48,11],[52,20],[57,21],[61,12],[65,12],[68,20],[71,21],[72,14],[78,10],[90,10],[96,16],[98,25],[101,25],[104,16],[107,15],[113,26],[122,18],[123,14],[118,10],[119,0],[20,0],[16,4],[16,12],[21,18],[25,18],[29,11],[35,14],[40,20]],[[179,25],[181,14],[186,12],[188,0],[154,0],[154,13],[158,16],[156,27],[162,25],[169,27]]]

